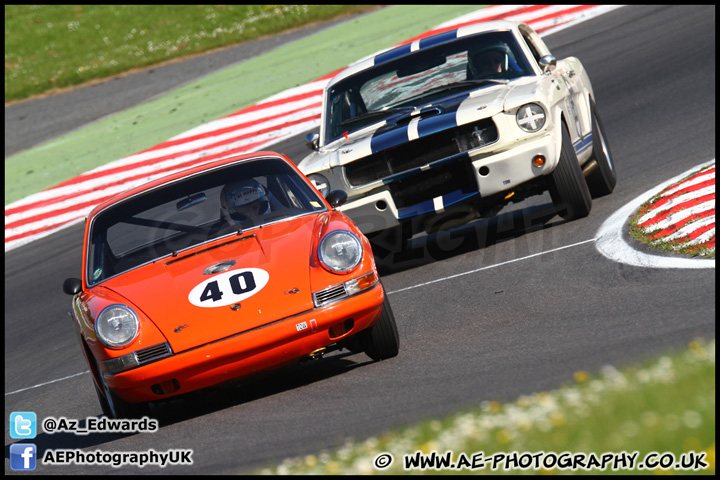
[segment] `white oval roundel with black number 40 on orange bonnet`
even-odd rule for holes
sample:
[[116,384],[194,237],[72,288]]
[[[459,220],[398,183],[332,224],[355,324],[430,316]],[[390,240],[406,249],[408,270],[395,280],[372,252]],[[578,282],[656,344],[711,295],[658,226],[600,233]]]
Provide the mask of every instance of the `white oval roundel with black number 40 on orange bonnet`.
[[252,297],[268,280],[270,274],[260,268],[230,270],[196,285],[188,300],[197,307],[224,307]]

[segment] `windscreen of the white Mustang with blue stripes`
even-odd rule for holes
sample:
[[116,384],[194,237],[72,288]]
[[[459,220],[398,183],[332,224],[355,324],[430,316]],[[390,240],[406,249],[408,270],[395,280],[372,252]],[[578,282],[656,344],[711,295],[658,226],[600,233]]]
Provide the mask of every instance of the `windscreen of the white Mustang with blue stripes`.
[[361,71],[327,93],[324,144],[455,91],[533,75],[511,32],[472,35]]

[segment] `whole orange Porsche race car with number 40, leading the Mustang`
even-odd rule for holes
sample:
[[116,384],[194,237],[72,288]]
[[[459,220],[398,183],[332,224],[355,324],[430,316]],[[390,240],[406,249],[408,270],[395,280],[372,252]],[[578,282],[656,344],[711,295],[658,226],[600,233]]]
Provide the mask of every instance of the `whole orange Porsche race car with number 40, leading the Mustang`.
[[124,192],[85,223],[75,331],[102,411],[341,348],[398,353],[370,244],[285,156],[261,152]]

